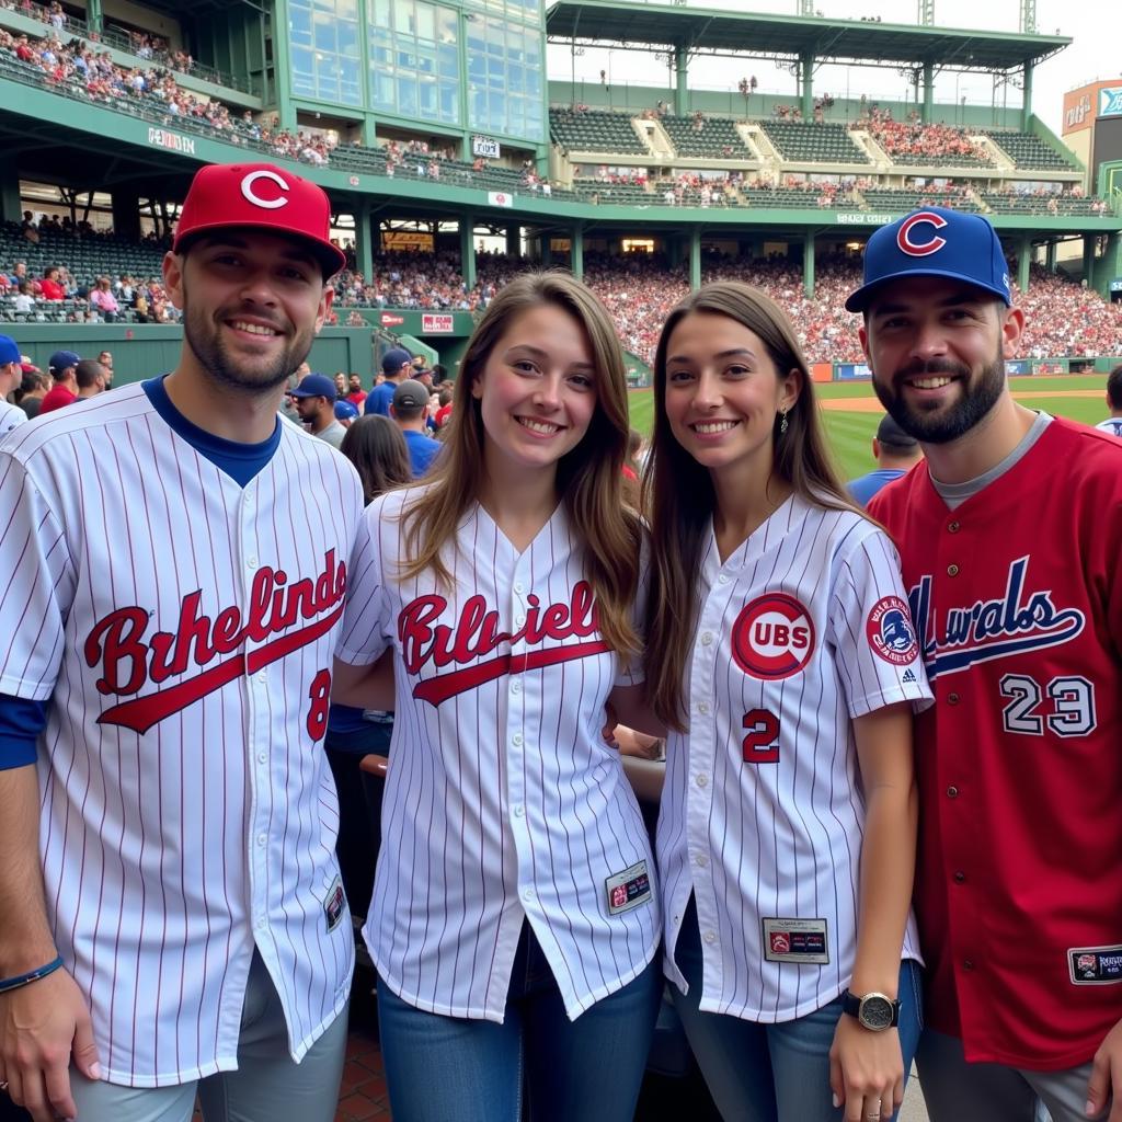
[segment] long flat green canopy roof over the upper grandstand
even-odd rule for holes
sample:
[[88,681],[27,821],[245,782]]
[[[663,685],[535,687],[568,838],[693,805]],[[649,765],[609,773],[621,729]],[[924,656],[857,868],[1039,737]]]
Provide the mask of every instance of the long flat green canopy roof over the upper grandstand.
[[978,31],[857,19],[723,11],[627,0],[560,0],[545,13],[551,38],[681,46],[756,56],[981,71],[1020,70],[1063,50],[1060,35]]

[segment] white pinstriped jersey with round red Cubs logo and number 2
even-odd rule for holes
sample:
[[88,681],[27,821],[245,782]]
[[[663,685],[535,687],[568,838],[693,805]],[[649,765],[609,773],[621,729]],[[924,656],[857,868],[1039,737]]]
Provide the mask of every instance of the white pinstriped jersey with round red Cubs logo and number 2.
[[[849,983],[865,808],[850,720],[929,703],[888,537],[791,497],[724,564],[710,536],[689,734],[671,734],[657,830],[666,975],[690,893],[701,1009],[794,1020]],[[684,636],[683,636],[684,638]],[[909,916],[904,958],[919,958]]]

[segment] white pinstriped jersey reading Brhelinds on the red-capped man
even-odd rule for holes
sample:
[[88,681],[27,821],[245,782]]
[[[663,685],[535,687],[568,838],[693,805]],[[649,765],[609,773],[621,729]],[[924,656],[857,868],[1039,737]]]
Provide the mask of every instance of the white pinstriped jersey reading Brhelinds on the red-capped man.
[[255,944],[293,1058],[347,1001],[320,741],[361,507],[291,425],[242,488],[140,385],[0,450],[0,692],[53,701],[47,910],[111,1083],[237,1067]]

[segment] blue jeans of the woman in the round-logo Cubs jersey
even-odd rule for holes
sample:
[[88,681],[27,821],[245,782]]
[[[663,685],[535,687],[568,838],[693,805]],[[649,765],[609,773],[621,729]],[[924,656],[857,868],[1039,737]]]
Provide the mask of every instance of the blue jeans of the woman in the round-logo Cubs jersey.
[[[830,1102],[830,1046],[842,999],[780,1024],[702,1013],[701,938],[690,898],[674,956],[690,987],[671,984],[674,1005],[717,1109],[745,1122],[840,1122],[844,1107]],[[904,1079],[922,1029],[922,982],[918,963],[900,964],[900,1050]],[[885,1116],[882,1122],[890,1122]]]

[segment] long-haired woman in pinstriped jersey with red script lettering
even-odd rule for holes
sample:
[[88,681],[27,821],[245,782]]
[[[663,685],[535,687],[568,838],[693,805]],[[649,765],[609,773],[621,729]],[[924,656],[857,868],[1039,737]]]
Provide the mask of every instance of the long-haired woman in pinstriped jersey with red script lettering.
[[[601,737],[632,665],[641,527],[607,313],[532,274],[488,305],[444,451],[377,499],[337,690],[393,649],[396,717],[365,935],[401,1122],[624,1122],[661,980],[643,820]],[[636,668],[637,670],[637,668]]]

